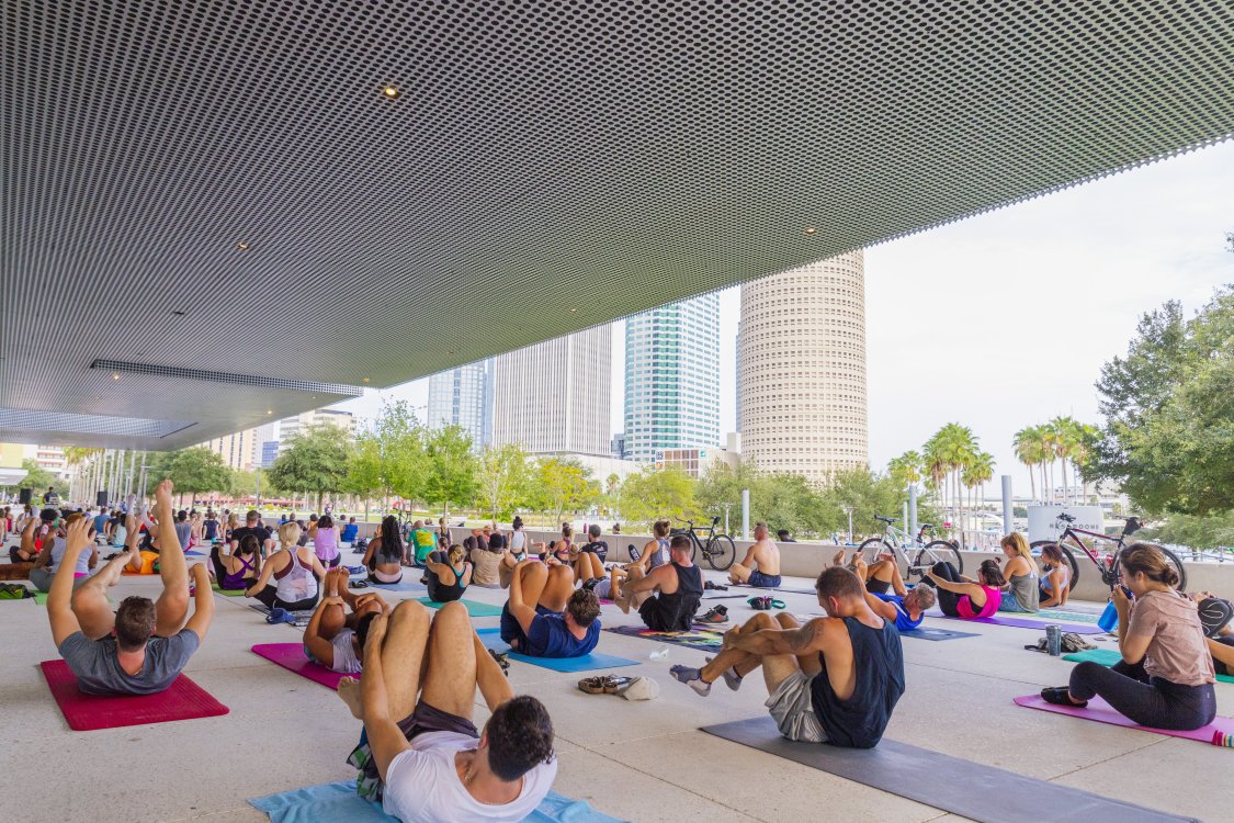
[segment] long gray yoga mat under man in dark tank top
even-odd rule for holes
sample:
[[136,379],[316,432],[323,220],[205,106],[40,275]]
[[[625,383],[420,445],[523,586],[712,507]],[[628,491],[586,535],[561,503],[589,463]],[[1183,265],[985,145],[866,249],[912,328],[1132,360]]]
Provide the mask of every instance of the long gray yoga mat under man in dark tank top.
[[793,743],[768,716],[702,730],[983,823],[1199,823],[886,738],[875,749]]

